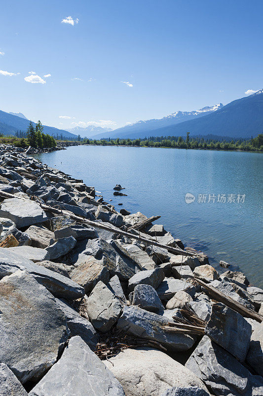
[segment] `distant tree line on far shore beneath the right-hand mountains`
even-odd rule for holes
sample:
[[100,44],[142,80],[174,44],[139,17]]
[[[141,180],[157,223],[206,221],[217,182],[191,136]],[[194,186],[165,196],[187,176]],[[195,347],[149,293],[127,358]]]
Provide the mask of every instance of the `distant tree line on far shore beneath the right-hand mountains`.
[[91,144],[98,146],[136,146],[136,147],[162,147],[162,148],[202,148],[202,149],[221,149],[221,150],[248,150],[263,151],[263,134],[259,134],[256,138],[251,139],[231,139],[227,141],[211,138],[190,138],[189,132],[184,139],[182,136],[154,137],[145,139],[101,139],[92,140],[84,138],[83,144]]

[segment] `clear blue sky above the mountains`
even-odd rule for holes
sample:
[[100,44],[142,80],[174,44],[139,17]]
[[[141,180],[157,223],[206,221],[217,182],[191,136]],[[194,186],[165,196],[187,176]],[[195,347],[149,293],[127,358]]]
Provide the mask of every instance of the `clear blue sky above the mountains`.
[[9,0],[0,109],[116,128],[226,104],[263,88],[262,15],[261,0]]

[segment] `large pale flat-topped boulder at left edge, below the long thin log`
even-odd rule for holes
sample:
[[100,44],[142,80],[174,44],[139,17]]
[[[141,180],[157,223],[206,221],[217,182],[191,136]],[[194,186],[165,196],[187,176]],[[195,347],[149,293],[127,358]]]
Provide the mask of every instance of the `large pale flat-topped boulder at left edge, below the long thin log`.
[[7,198],[0,205],[0,217],[12,220],[17,228],[31,226],[47,220],[37,202],[30,199]]

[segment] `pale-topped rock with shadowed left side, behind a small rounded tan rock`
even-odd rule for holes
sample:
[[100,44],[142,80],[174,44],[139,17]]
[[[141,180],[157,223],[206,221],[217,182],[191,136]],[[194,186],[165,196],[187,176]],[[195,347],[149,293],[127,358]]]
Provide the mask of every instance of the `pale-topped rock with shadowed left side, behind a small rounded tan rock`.
[[156,289],[156,292],[161,300],[168,301],[177,292],[181,292],[183,290],[189,293],[190,296],[193,296],[195,293],[195,287],[185,280],[165,278]]

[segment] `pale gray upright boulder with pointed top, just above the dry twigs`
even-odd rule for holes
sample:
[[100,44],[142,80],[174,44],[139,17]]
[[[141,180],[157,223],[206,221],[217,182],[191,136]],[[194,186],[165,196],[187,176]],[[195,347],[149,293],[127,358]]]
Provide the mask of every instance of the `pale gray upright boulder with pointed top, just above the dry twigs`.
[[86,300],[89,320],[95,329],[106,333],[121,314],[121,303],[103,282],[98,282]]

